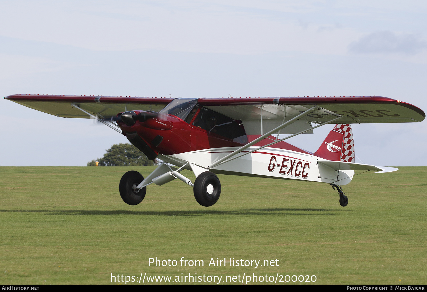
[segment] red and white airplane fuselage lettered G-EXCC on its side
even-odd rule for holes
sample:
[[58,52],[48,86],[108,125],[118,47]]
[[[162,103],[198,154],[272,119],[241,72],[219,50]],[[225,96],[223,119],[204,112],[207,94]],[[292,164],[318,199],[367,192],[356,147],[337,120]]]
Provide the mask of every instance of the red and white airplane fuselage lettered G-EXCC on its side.
[[[139,111],[135,111],[135,113],[138,114]],[[204,130],[173,115],[167,115],[167,118],[164,116],[142,122],[136,121],[132,126],[123,122],[118,122],[118,124],[123,130],[123,134],[128,139],[131,138],[130,142],[136,133],[155,152],[156,157],[160,155],[160,159],[175,165],[179,164],[179,161],[183,161],[191,162],[205,168],[206,171],[219,174],[296,179],[339,185],[348,184],[354,175],[354,171],[336,171],[319,164],[317,163],[319,157],[286,142],[278,142],[274,145],[275,147],[265,147],[209,168],[213,162],[244,144]],[[259,136],[246,135],[246,142],[251,142]],[[243,153],[264,146],[274,139],[273,136],[263,139]],[[191,170],[188,166],[184,168]]]

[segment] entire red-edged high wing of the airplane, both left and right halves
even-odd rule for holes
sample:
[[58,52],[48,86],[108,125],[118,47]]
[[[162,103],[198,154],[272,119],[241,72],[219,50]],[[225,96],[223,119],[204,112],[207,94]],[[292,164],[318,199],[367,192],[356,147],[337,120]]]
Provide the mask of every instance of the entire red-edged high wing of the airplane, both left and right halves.
[[[175,98],[16,94],[5,99],[55,116],[88,118],[72,104],[95,116],[111,117],[126,110],[158,112]],[[420,122],[425,118],[425,113],[418,107],[381,96],[199,98],[197,102],[232,119],[242,120],[249,135],[267,133],[313,105],[319,109],[288,125],[280,133],[298,133],[310,129],[311,123],[325,123],[337,116],[342,116],[339,120],[342,124]]]

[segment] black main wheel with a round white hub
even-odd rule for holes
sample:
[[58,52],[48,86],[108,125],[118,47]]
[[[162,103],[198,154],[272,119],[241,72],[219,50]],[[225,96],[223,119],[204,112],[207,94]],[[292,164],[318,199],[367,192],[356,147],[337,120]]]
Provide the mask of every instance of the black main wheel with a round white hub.
[[221,183],[218,176],[210,171],[200,173],[194,181],[193,192],[200,205],[212,206],[218,201],[221,194]]

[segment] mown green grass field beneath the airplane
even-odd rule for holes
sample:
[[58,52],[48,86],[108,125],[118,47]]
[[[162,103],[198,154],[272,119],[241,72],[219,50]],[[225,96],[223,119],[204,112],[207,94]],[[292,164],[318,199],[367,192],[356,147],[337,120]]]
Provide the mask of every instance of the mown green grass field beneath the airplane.
[[[344,186],[347,207],[327,184],[221,175],[212,207],[178,179],[150,185],[142,203],[126,205],[120,177],[153,169],[0,167],[0,283],[108,284],[111,273],[139,280],[141,272],[427,283],[427,167],[357,175]],[[178,265],[149,266],[149,257]],[[181,267],[181,257],[204,266]],[[279,266],[208,266],[212,257]]]

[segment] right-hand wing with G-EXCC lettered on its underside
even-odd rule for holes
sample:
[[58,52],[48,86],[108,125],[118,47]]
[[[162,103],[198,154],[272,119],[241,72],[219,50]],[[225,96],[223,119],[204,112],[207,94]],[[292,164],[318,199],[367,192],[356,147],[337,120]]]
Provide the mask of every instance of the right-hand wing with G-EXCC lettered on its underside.
[[266,133],[313,107],[313,104],[321,109],[286,127],[281,134],[309,129],[310,123],[324,123],[337,115],[343,116],[339,120],[341,124],[419,122],[425,118],[425,113],[418,107],[382,96],[199,98],[198,102],[225,116],[242,120],[247,134],[261,133],[261,116],[263,133]]

